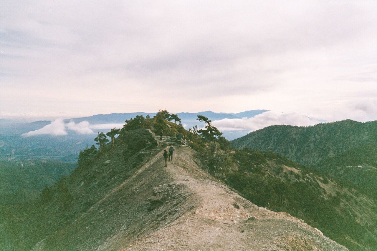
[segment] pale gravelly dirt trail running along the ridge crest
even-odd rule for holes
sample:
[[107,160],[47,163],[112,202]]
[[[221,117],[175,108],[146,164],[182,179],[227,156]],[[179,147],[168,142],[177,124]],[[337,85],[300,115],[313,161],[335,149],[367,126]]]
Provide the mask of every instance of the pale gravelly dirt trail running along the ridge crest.
[[[184,186],[196,203],[124,250],[347,250],[302,220],[257,207],[201,170],[195,151],[175,148],[165,168],[169,185]],[[164,165],[162,157],[154,160]]]

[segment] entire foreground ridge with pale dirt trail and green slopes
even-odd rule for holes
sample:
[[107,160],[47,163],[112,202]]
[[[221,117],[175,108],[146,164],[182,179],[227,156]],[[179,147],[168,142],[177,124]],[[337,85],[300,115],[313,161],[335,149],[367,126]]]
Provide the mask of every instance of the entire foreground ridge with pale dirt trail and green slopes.
[[[326,190],[323,177],[277,155],[232,152],[226,141],[205,141],[167,121],[145,125],[162,126],[162,140],[149,129],[123,131],[114,147],[103,145],[90,156],[83,152],[78,167],[45,188],[35,204],[0,208],[2,249],[347,250],[324,234],[339,240],[348,234],[346,244],[368,247],[369,239],[358,234],[375,213],[362,210],[357,194],[331,181]],[[162,153],[170,145],[176,151],[164,167]],[[305,193],[295,196],[292,187]],[[339,201],[350,203],[364,222],[358,224],[355,213],[340,217]],[[326,210],[313,213],[326,202]],[[306,223],[267,207],[296,212]],[[325,227],[328,220],[348,223],[352,231]]]

